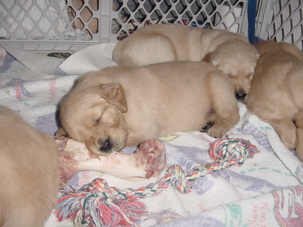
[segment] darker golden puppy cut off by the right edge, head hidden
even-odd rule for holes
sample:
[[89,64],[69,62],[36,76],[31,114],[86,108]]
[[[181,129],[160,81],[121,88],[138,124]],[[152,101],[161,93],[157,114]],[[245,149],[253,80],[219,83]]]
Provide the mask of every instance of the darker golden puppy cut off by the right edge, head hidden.
[[261,55],[247,108],[271,124],[288,149],[296,149],[303,160],[303,55],[295,45],[273,40],[255,47]]

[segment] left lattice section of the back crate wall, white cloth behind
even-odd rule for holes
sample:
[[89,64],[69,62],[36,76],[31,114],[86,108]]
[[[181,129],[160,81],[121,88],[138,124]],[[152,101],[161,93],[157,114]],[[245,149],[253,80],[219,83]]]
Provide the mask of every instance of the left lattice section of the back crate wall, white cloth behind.
[[[75,51],[100,43],[102,36],[108,42],[110,2],[103,2],[1,0],[0,44],[30,51]],[[102,15],[101,7],[108,12]]]

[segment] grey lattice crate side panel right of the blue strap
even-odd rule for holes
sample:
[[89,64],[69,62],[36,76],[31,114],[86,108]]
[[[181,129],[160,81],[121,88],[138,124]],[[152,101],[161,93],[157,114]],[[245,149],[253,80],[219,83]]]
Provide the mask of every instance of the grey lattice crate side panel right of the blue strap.
[[256,35],[297,45],[303,51],[303,1],[263,0],[259,4]]

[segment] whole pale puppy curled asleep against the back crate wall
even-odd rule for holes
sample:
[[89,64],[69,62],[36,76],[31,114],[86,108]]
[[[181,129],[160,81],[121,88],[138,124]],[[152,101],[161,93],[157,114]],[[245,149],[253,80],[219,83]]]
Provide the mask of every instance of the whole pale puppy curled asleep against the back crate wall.
[[237,100],[243,101],[251,86],[258,53],[247,38],[226,30],[155,24],[139,28],[120,41],[113,59],[125,66],[208,61],[229,78]]

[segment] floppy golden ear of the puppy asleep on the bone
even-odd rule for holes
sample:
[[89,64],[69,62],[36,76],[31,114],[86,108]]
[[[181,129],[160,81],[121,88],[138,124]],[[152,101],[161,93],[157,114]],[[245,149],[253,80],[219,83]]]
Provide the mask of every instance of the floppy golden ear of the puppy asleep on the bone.
[[109,104],[115,105],[123,113],[127,111],[125,91],[119,83],[102,84],[99,86],[98,94]]

